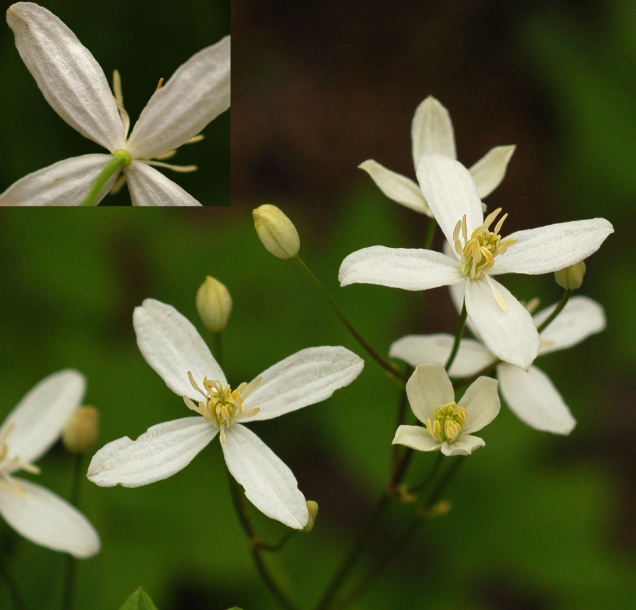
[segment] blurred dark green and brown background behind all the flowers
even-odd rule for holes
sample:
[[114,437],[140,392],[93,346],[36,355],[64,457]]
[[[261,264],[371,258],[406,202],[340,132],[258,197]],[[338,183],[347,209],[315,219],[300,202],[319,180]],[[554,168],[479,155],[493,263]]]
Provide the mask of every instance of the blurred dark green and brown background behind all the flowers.
[[[107,70],[120,69],[132,116],[157,76],[227,31],[227,15],[219,30],[211,14],[197,16],[211,10],[207,3],[47,6]],[[138,41],[142,32],[147,44]],[[588,261],[581,291],[603,304],[608,328],[538,362],[578,420],[572,434],[535,432],[502,409],[484,431],[487,446],[467,459],[445,496],[452,511],[428,522],[353,608],[633,607],[636,282],[626,233],[636,198],[634,4],[409,0],[369,10],[360,0],[233,0],[232,34],[231,208],[3,210],[0,414],[48,373],[75,367],[89,380],[87,402],[102,414],[100,446],[185,416],[181,399],[137,350],[131,316],[153,297],[202,328],[194,296],[207,274],[234,298],[224,337],[232,383],[313,345],[360,353],[295,266],[258,242],[250,210],[264,202],[288,211],[303,256],[378,349],[388,351],[413,330],[452,331],[445,290],[427,293],[422,310],[417,294],[337,285],[340,261],[351,251],[421,243],[425,219],[385,199],[356,166],[373,158],[413,176],[410,121],[433,94],[451,112],[467,165],[492,146],[517,144],[506,180],[488,199],[510,213],[508,231],[594,216],[614,224],[616,233]],[[3,86],[1,103],[11,118],[0,121],[0,175],[8,184],[92,145],[52,113],[11,37],[2,36],[2,82],[24,73],[17,99],[13,85]],[[108,54],[116,56],[112,66]],[[146,69],[158,55],[160,65]],[[138,73],[129,77],[129,69]],[[63,134],[75,142],[61,144]],[[199,147],[212,140],[210,134],[188,150],[187,160],[180,152],[183,161],[203,167]],[[208,170],[228,175],[227,165],[219,169],[224,155],[213,157],[196,175],[201,187],[180,180],[203,203],[213,203],[205,194],[222,180]],[[543,305],[560,296],[549,276],[504,283]],[[417,328],[415,318],[422,320]],[[251,426],[320,504],[313,533],[272,558],[302,608],[312,607],[385,484],[398,398],[398,388],[369,361],[356,383],[324,404]],[[431,462],[418,456],[414,482]],[[69,456],[57,447],[39,464],[38,482],[66,495]],[[139,585],[160,610],[276,607],[255,575],[216,443],[181,473],[148,487],[86,483],[82,507],[103,550],[80,564],[78,610],[118,608]],[[282,528],[253,515],[264,537],[280,535]],[[365,565],[409,517],[409,507],[394,508]],[[6,527],[2,542],[29,607],[43,607],[42,599],[51,600],[46,608],[57,607],[64,557]],[[0,607],[10,607],[2,588]]]

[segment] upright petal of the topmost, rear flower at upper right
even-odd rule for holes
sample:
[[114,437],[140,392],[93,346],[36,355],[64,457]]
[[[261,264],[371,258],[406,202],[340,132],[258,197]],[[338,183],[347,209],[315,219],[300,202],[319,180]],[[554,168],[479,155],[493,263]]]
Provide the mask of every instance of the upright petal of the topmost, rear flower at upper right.
[[455,159],[455,136],[448,110],[429,95],[415,111],[411,123],[413,164],[422,155],[447,155]]

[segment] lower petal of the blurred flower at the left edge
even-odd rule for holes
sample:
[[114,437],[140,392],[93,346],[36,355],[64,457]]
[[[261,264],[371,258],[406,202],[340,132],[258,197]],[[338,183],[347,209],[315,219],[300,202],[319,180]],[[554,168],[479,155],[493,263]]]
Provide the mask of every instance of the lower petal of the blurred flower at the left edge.
[[19,534],[40,546],[84,559],[100,549],[99,535],[88,519],[44,487],[16,479],[24,489],[0,489],[0,514]]

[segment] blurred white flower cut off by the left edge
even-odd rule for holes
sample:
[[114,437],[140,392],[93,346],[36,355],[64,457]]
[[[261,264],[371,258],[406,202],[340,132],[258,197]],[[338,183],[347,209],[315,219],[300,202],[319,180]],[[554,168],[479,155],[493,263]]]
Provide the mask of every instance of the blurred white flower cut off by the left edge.
[[60,437],[85,388],[86,381],[77,371],[49,375],[0,428],[0,514],[32,542],[81,558],[100,548],[99,536],[86,517],[48,489],[14,473],[40,472],[33,462]]

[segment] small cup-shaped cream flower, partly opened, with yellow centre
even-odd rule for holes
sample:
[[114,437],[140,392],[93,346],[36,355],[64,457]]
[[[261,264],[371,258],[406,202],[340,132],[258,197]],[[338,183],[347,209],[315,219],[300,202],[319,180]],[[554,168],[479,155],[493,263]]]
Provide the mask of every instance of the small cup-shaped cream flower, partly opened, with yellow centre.
[[444,367],[419,364],[406,384],[406,394],[417,419],[426,427],[400,426],[393,444],[444,455],[469,455],[486,443],[472,432],[481,430],[499,413],[497,381],[480,377],[455,403],[455,392]]

